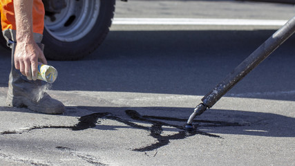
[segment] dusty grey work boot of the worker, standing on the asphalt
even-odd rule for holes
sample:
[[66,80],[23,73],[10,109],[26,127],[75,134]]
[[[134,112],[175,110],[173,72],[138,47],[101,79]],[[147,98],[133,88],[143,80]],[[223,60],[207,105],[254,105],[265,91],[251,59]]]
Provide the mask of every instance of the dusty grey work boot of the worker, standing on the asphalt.
[[[12,107],[28,107],[28,109],[39,113],[63,113],[64,104],[44,92],[46,84],[42,84],[41,80],[28,80],[15,68],[16,43],[10,39],[8,45],[12,49],[12,55],[6,103]],[[42,44],[38,44],[38,46],[43,50]]]

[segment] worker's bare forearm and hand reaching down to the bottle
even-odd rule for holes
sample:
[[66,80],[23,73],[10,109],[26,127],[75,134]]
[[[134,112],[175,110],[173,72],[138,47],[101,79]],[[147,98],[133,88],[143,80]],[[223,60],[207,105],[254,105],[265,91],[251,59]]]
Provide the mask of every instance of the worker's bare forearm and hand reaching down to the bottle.
[[15,68],[26,75],[28,80],[37,80],[38,59],[47,64],[44,53],[37,46],[32,30],[33,0],[15,0],[15,22],[17,26],[17,47]]

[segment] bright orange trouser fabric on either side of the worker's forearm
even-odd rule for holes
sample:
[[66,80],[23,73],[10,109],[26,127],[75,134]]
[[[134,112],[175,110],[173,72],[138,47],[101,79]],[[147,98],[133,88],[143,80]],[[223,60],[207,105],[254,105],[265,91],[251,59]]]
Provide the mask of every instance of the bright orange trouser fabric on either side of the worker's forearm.
[[[13,0],[0,0],[2,30],[17,30],[15,26],[15,10]],[[44,30],[44,5],[42,0],[34,0],[32,8],[33,33],[43,34]]]

